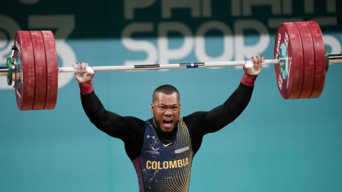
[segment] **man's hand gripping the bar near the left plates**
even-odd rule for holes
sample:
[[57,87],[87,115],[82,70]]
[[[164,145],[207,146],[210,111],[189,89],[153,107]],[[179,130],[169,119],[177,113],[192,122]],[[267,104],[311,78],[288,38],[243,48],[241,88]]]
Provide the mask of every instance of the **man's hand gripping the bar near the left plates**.
[[76,70],[75,78],[78,83],[90,82],[95,75],[94,70],[88,68],[88,63],[75,63],[73,64],[73,68]]

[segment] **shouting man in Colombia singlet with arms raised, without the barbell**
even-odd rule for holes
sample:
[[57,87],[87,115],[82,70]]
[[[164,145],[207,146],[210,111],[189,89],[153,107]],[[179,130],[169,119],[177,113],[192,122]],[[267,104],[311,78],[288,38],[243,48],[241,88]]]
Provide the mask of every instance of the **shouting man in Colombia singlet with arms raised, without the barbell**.
[[93,89],[94,73],[84,72],[88,63],[73,67],[83,110],[98,129],[123,140],[137,171],[140,191],[188,191],[192,159],[204,135],[234,121],[249,103],[264,58],[257,55],[251,60],[252,65],[244,65],[239,86],[222,105],[180,118],[180,93],[172,85],[161,85],[152,94],[153,117],[146,121],[105,110]]

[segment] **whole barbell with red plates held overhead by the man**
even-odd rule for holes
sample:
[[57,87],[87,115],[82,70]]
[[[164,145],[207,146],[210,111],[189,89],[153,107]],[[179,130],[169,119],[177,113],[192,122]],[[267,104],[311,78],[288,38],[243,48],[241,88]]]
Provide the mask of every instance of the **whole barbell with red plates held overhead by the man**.
[[[281,23],[276,30],[274,59],[263,65],[274,65],[276,82],[284,99],[316,98],[323,91],[330,63],[342,63],[342,54],[325,52],[321,28],[316,21]],[[252,65],[251,60],[179,63],[164,65],[93,66],[94,71],[157,70],[172,68],[214,68]],[[58,68],[56,43],[51,31],[18,31],[11,57],[0,76],[14,83],[19,110],[52,110],[56,106],[58,73],[75,72]]]

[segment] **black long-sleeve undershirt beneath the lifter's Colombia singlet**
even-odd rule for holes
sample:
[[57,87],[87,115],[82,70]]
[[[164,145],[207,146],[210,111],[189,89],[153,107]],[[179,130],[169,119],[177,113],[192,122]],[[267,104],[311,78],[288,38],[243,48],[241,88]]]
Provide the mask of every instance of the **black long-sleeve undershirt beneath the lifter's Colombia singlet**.
[[[217,132],[239,117],[239,114],[247,107],[252,92],[253,87],[240,83],[239,87],[222,105],[209,112],[194,112],[183,117],[189,129],[194,155],[202,144],[204,134]],[[123,117],[105,110],[95,92],[81,95],[81,102],[90,122],[111,137],[122,139],[125,143],[125,151],[132,161],[138,158],[145,134],[145,122],[142,119]],[[152,119],[150,121],[152,122]],[[177,129],[170,133],[164,133],[156,127],[155,129],[157,134],[168,143],[175,139]]]

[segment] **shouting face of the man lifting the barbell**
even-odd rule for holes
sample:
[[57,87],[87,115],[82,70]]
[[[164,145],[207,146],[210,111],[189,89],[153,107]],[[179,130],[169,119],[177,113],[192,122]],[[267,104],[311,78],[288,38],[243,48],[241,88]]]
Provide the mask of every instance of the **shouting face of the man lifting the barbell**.
[[155,92],[151,112],[155,126],[162,132],[171,132],[180,118],[180,97],[177,92],[170,95]]

